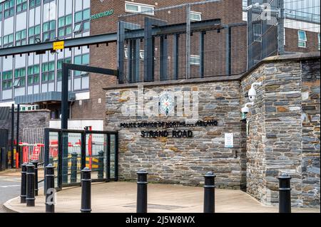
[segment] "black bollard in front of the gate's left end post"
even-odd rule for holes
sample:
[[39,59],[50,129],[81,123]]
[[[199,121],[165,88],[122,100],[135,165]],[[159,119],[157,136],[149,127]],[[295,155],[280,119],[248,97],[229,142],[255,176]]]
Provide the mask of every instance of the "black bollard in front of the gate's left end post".
[[55,167],[53,164],[46,166],[46,213],[55,213]]

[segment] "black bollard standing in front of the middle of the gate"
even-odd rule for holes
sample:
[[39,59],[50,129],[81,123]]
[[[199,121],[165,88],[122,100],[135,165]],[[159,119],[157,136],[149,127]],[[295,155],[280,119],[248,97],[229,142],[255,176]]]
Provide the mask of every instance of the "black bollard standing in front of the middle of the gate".
[[81,170],[81,213],[91,213],[91,169]]

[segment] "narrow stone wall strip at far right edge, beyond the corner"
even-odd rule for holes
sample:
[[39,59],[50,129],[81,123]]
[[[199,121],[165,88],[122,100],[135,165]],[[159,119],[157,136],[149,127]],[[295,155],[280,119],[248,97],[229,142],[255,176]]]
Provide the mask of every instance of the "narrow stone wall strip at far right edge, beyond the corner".
[[320,206],[320,59],[302,61],[302,201]]

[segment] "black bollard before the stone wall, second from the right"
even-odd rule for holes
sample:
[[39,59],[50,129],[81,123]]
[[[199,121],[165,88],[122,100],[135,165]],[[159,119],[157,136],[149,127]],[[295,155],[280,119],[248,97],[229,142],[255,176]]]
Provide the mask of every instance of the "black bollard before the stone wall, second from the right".
[[215,177],[212,171],[204,176],[204,213],[215,213]]

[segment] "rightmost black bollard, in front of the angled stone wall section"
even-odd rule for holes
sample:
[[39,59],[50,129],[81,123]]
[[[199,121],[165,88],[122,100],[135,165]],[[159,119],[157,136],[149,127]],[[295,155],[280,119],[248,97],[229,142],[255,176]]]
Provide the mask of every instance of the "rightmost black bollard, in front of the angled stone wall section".
[[280,174],[279,179],[279,213],[291,213],[291,176]]

